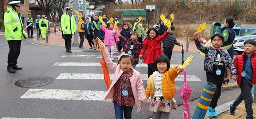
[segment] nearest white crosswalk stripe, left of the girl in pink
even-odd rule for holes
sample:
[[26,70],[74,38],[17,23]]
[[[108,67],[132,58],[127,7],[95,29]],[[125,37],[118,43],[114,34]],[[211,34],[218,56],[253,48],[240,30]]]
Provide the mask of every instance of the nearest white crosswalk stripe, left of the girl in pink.
[[103,101],[106,93],[98,90],[29,89],[20,98]]

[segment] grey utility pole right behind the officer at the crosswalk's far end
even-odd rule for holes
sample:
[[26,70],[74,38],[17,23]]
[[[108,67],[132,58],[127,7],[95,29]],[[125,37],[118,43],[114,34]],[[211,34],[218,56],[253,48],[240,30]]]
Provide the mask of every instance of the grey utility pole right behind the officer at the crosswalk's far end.
[[[78,0],[74,0],[73,9],[78,10]],[[75,17],[76,29],[77,29],[78,16],[76,15],[75,12],[73,12],[73,15],[74,15],[74,17]],[[78,42],[77,39],[78,39],[78,36],[77,36],[77,31],[76,31],[76,33],[74,34],[74,41],[73,41],[73,43],[72,43],[72,46],[79,46],[79,42]]]

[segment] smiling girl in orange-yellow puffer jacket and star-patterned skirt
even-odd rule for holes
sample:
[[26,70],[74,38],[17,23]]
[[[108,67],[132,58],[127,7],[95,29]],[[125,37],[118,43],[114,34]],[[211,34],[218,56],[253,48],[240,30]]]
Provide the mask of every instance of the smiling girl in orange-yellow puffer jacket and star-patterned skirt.
[[175,96],[175,78],[181,67],[170,67],[170,60],[166,55],[159,55],[156,60],[156,70],[148,78],[148,85],[145,91],[147,99],[152,101],[149,111],[153,112],[153,119],[169,119],[172,108],[172,98]]

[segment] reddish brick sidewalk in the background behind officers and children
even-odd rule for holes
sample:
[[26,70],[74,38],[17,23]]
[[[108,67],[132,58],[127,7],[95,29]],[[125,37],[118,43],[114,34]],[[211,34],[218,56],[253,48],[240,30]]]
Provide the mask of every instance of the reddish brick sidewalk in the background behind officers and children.
[[[42,43],[42,44],[46,44],[46,41],[43,40],[42,38],[40,38],[39,41],[36,40],[37,38],[34,38],[33,40],[35,42],[39,42],[39,43]],[[74,40],[74,35],[72,37],[72,42]],[[78,41],[80,43],[80,37],[79,37],[79,34],[78,34]],[[178,42],[180,42],[181,44],[183,44],[183,49],[184,51],[186,52],[186,38],[180,38],[180,39],[177,39]],[[55,45],[55,46],[65,46],[65,42],[64,42],[64,39],[62,38],[62,35],[61,35],[61,32],[57,32],[56,35],[52,32],[51,30],[51,33],[49,35],[49,40],[48,40],[48,43],[49,45]],[[116,45],[115,45],[116,46]],[[84,38],[84,44],[83,44],[83,47],[85,49],[89,49],[90,46],[88,44],[88,41],[87,39]],[[174,49],[173,49],[173,52],[181,52],[181,47],[175,45]],[[189,52],[199,52],[199,50],[196,48],[195,46],[195,43],[193,41],[189,41]]]

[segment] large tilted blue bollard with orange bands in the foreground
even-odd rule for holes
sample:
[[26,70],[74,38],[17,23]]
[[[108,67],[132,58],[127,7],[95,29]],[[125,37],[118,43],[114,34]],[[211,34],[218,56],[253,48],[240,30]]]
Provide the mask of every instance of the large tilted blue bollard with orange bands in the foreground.
[[194,115],[192,119],[204,119],[208,107],[212,101],[212,97],[215,93],[216,86],[212,83],[204,84],[204,90],[198,101],[198,105],[195,108]]

